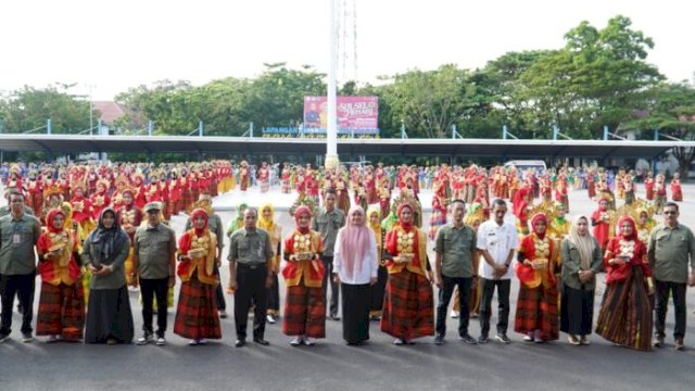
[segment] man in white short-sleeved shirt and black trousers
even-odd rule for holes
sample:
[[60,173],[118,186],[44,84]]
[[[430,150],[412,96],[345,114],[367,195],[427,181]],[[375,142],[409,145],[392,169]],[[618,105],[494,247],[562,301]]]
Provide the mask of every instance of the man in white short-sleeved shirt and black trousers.
[[502,199],[492,203],[493,219],[486,220],[478,228],[478,250],[483,261],[478,267],[478,275],[482,283],[480,299],[480,337],[478,343],[488,342],[490,332],[490,316],[492,297],[497,288],[497,333],[495,339],[502,343],[511,342],[507,337],[509,325],[509,290],[511,288],[511,258],[519,244],[517,230],[511,223],[504,220],[507,204]]

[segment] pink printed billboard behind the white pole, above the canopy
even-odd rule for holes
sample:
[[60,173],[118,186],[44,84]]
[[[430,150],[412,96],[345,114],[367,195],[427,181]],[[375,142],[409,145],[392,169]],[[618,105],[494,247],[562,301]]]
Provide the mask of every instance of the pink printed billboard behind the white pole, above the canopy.
[[[304,97],[304,128],[326,129],[328,98]],[[338,97],[338,130],[377,130],[379,97]],[[342,131],[341,131],[342,130]]]

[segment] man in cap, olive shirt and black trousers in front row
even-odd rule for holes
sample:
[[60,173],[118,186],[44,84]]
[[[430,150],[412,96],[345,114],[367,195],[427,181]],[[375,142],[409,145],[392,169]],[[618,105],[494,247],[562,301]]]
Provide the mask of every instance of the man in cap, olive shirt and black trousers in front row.
[[166,343],[167,292],[176,282],[176,235],[162,224],[159,202],[144,205],[147,225],[135,232],[131,283],[140,285],[142,294],[142,337],[137,344],[154,340],[152,329],[152,300],[156,297],[156,344]]

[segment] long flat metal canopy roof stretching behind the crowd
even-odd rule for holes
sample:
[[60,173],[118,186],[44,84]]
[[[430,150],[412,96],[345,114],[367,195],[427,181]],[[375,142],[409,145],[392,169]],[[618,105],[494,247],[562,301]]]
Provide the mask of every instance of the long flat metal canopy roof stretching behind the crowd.
[[[630,140],[500,140],[500,139],[340,139],[338,153],[362,155],[433,155],[511,157],[656,157],[695,141]],[[0,135],[0,150],[14,152],[85,153],[216,153],[324,154],[321,139],[191,137]]]

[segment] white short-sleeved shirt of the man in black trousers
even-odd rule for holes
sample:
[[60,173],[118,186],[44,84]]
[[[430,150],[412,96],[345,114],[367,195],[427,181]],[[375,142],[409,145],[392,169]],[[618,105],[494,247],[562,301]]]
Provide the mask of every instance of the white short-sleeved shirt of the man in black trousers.
[[[495,220],[490,219],[478,227],[478,243],[476,247],[480,250],[488,250],[490,256],[495,263],[504,265],[509,256],[509,251],[515,250],[519,245],[516,227],[510,223],[503,223],[498,226]],[[511,258],[514,262],[514,257]],[[478,276],[485,279],[495,279],[494,269],[484,258],[480,260],[478,266]],[[500,279],[510,279],[514,276],[514,267],[511,264],[507,273]]]

